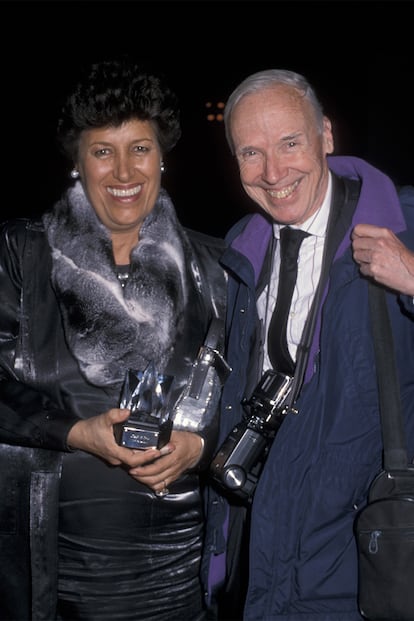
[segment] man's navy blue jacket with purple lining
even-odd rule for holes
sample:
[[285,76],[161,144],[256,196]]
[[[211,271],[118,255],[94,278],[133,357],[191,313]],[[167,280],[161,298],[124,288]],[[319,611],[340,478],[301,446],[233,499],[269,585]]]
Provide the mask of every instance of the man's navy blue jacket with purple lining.
[[[360,222],[388,226],[414,248],[414,188],[400,190],[398,200],[388,177],[358,158],[330,157],[329,166],[345,188],[356,181],[359,196],[330,266],[299,413],[287,415],[255,492],[246,621],[361,619],[353,524],[381,469],[382,444],[367,280],[352,259],[350,233]],[[346,210],[346,193],[341,201]],[[260,375],[256,285],[271,238],[272,225],[260,214],[243,218],[227,238],[222,263],[229,272],[227,360],[233,371],[223,392],[222,440],[240,420],[241,400]],[[387,302],[412,457],[412,301],[388,293]],[[210,509],[212,587],[224,571],[228,504],[212,492]]]

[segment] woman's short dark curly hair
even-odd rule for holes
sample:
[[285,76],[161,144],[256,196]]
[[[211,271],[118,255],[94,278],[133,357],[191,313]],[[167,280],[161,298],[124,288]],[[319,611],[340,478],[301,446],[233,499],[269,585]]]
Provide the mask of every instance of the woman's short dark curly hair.
[[64,155],[75,162],[84,130],[119,127],[131,119],[151,122],[163,154],[181,136],[177,96],[163,78],[126,58],[97,62],[66,99],[57,140]]

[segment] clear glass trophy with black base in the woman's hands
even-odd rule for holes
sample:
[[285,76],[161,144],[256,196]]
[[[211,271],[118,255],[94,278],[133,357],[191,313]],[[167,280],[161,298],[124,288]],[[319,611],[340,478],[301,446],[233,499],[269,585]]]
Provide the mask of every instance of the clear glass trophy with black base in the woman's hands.
[[173,425],[168,411],[173,379],[158,373],[153,362],[144,371],[128,369],[119,407],[129,409],[131,414],[128,420],[114,426],[120,446],[160,449],[167,444]]

